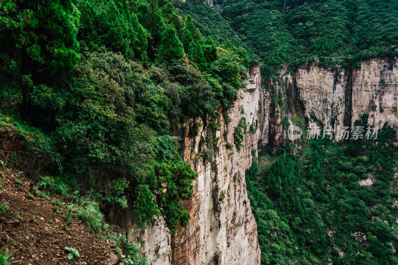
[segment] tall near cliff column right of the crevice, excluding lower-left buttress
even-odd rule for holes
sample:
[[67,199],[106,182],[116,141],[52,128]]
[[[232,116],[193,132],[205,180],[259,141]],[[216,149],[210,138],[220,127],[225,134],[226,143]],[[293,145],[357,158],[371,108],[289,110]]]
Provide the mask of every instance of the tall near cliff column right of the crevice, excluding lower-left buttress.
[[[257,225],[245,182],[245,170],[251,166],[252,150],[257,147],[257,135],[250,133],[249,127],[253,123],[255,126],[258,120],[260,83],[259,69],[254,67],[250,70],[247,87],[239,91],[238,100],[230,111],[230,122],[226,124],[219,115],[220,130],[203,125],[205,121],[199,121],[202,125],[196,137],[191,136],[190,124],[180,128],[184,139],[181,154],[198,172],[198,178],[194,183],[194,197],[186,204],[190,223],[172,239],[174,265],[260,264]],[[226,142],[234,143],[234,128],[242,118],[248,124],[247,133],[241,151],[237,152],[235,146],[228,149]],[[214,139],[215,143],[200,143],[201,137]],[[212,148],[213,162],[198,158],[199,152]]]

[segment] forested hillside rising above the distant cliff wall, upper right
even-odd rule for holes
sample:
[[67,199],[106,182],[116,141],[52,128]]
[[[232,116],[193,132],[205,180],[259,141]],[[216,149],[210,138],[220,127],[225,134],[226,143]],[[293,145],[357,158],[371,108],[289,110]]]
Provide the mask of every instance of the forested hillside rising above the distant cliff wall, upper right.
[[[263,73],[308,60],[356,67],[360,59],[398,55],[397,1],[217,0],[213,4],[264,62]],[[199,17],[205,14],[202,7],[190,9]],[[213,24],[206,23],[211,29]]]

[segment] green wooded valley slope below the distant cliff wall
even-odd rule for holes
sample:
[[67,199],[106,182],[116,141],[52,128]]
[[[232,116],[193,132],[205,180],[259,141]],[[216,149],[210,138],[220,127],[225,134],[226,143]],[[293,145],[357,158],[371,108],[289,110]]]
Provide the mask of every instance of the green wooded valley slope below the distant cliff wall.
[[[397,198],[391,190],[397,161],[393,131],[384,126],[377,145],[355,140],[342,147],[314,140],[302,155],[284,153],[259,166],[253,162],[246,184],[262,264],[289,264],[298,257],[300,264],[321,259],[341,264],[334,249],[349,264],[396,262],[391,252],[398,243],[398,212],[391,207]],[[383,166],[374,171],[378,164]],[[372,186],[359,185],[362,177],[355,174],[364,172],[377,179]]]

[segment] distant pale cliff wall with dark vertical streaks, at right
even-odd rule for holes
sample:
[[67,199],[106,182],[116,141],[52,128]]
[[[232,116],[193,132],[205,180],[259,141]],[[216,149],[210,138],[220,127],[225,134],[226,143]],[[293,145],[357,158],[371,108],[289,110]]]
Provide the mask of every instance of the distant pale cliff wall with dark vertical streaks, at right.
[[[337,130],[353,126],[368,113],[368,124],[396,128],[397,58],[375,58],[353,70],[321,68],[317,63],[300,66],[295,74],[281,73],[288,115]],[[336,136],[336,135],[335,135]]]

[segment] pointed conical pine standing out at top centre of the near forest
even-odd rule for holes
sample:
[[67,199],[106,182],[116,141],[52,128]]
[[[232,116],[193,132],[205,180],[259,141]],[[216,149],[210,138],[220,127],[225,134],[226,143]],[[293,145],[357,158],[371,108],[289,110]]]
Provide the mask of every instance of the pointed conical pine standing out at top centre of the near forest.
[[159,48],[159,61],[167,63],[173,59],[181,59],[183,56],[183,44],[177,37],[176,30],[172,25],[167,25]]

